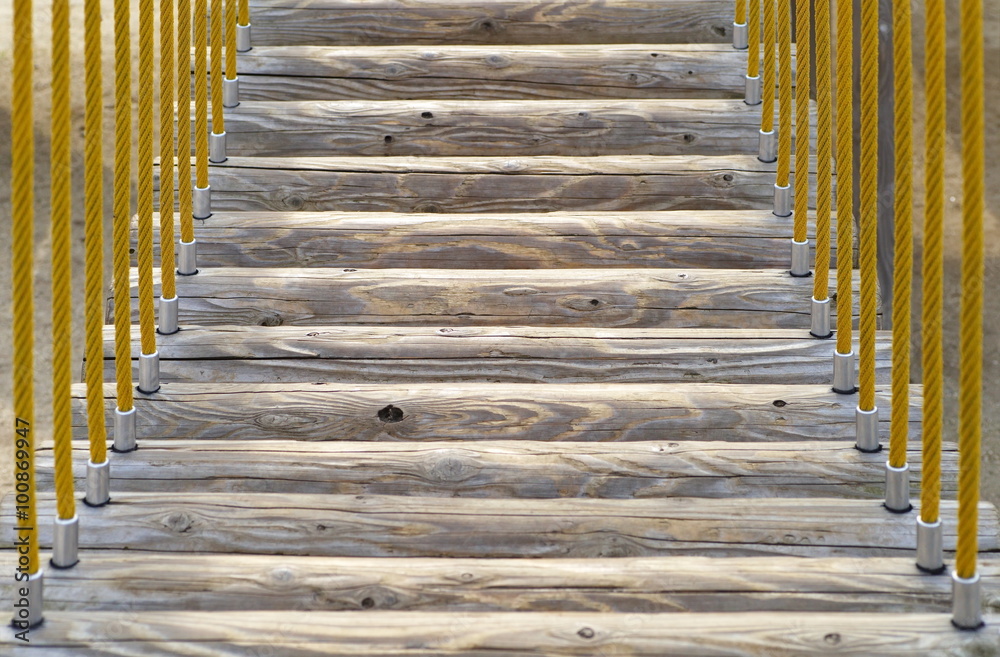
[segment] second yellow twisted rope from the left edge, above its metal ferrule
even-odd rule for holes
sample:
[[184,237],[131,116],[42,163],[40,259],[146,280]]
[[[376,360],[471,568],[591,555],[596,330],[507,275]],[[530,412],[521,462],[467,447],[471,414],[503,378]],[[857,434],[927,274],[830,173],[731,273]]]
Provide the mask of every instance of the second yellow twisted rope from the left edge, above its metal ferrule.
[[[73,208],[70,201],[72,149],[69,106],[69,0],[52,2],[52,152],[49,158],[52,220],[52,443],[56,508],[69,520],[73,499],[72,286],[70,272]],[[22,247],[23,248],[23,247]]]

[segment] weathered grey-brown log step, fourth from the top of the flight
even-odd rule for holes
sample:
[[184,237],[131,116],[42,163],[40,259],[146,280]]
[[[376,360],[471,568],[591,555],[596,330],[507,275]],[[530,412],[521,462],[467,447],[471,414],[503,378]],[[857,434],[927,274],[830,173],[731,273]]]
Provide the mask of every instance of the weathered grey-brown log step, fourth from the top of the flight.
[[211,184],[212,208],[221,211],[770,210],[774,204],[774,164],[754,155],[231,157],[212,167]]

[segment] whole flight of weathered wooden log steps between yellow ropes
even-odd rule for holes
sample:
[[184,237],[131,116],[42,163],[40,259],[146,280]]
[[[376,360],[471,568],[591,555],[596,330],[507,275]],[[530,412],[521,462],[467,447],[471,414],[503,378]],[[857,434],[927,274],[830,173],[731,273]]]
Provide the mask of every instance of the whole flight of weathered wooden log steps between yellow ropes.
[[251,8],[183,328],[40,654],[1000,654],[853,448],[729,0]]

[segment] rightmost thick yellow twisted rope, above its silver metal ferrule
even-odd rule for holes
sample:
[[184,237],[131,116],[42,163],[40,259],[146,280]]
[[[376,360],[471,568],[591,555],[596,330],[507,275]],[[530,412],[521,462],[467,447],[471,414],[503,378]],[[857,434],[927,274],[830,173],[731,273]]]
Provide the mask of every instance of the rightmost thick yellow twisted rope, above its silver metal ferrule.
[[955,572],[976,574],[983,394],[983,9],[961,0],[962,307],[959,321],[958,543]]

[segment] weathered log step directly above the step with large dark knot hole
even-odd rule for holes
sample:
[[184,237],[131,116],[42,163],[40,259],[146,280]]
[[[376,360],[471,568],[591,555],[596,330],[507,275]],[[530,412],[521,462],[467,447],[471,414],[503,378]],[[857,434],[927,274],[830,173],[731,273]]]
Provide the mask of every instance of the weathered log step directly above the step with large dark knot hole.
[[[132,357],[139,358],[133,328]],[[114,379],[114,328],[104,358]],[[888,333],[876,381],[890,379]],[[805,330],[185,326],[160,336],[160,380],[204,383],[823,384],[832,344]],[[136,365],[136,367],[138,367]]]

